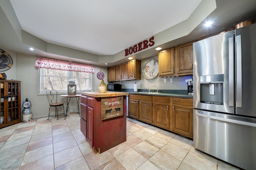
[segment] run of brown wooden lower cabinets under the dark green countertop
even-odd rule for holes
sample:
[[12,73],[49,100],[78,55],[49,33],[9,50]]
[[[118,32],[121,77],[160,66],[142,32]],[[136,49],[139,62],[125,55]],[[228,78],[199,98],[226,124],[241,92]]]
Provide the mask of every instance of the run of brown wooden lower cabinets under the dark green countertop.
[[193,138],[193,99],[129,95],[129,117]]

